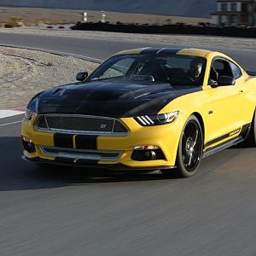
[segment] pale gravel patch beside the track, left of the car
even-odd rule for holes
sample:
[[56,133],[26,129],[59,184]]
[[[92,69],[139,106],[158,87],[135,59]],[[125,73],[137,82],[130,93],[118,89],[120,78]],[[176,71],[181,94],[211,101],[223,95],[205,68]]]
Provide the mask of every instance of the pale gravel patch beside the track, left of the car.
[[38,92],[75,82],[76,74],[98,65],[73,57],[0,47],[0,109],[24,106]]

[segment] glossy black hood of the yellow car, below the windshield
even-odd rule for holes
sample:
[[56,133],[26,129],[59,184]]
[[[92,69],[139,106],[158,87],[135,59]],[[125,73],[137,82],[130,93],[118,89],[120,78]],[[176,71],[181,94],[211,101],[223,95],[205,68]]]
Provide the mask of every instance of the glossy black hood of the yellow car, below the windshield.
[[[96,81],[67,84],[35,96],[29,107],[37,113],[75,113],[108,117],[131,117],[159,113],[178,96],[201,90],[198,86]],[[32,108],[30,108],[32,110]]]

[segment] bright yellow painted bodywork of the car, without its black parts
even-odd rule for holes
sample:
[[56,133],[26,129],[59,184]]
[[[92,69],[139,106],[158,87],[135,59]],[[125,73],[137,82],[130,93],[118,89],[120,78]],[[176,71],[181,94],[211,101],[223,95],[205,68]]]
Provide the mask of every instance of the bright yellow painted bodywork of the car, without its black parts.
[[[142,50],[133,49],[119,54],[138,54]],[[183,127],[186,120],[193,113],[201,116],[203,120],[204,143],[225,134],[230,134],[230,137],[209,147],[218,146],[219,143],[237,137],[241,132],[241,127],[252,122],[256,102],[256,79],[249,77],[241,68],[242,76],[240,79],[236,79],[235,85],[212,88],[208,85],[212,59],[215,56],[221,56],[230,60],[228,56],[201,49],[182,49],[177,54],[196,55],[207,59],[206,76],[202,90],[177,97],[160,110],[160,113],[180,111],[177,119],[172,124],[143,127],[137,124],[137,121],[132,117],[120,119],[128,127],[128,135],[125,137],[99,136],[97,148],[100,150],[122,151],[123,154],[119,160],[102,160],[99,164],[123,164],[130,167],[175,166],[177,146]],[[236,65],[238,64],[236,63]],[[37,119],[38,116],[34,115],[31,121],[24,120],[22,123],[21,135],[32,139],[37,146],[37,153],[28,154],[25,152],[24,154],[28,158],[40,157],[45,159],[46,157],[40,152],[38,145],[54,146],[54,133],[35,131],[33,125]],[[141,145],[159,146],[165,154],[166,160],[131,160],[133,148]],[[75,136],[73,137],[73,146],[75,148]],[[48,157],[47,159],[53,160],[54,158]]]

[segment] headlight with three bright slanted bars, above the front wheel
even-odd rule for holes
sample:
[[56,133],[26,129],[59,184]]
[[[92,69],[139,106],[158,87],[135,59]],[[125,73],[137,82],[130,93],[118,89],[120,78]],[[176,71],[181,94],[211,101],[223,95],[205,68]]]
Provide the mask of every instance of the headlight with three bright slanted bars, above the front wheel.
[[170,113],[160,113],[155,115],[141,115],[134,119],[143,126],[166,125],[177,119],[178,113],[179,111],[173,111]]

